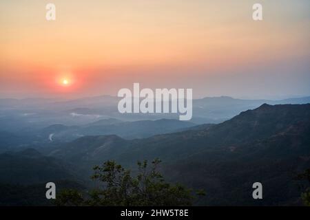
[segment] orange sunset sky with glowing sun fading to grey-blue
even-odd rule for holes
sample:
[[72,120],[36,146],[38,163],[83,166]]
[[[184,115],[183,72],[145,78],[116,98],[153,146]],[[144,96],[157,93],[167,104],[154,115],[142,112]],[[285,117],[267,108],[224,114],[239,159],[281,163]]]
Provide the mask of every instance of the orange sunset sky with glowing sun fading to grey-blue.
[[194,98],[309,96],[309,10],[308,0],[1,0],[0,98],[116,96],[133,83]]

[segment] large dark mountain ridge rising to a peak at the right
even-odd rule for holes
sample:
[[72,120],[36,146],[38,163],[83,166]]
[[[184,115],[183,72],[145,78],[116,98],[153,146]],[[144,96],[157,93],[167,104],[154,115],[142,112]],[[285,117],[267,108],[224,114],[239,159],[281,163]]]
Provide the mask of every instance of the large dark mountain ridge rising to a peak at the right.
[[[141,140],[81,137],[50,155],[83,167],[159,157],[169,180],[206,190],[203,204],[298,204],[293,177],[310,167],[310,104],[262,104],[220,124]],[[264,186],[264,201],[251,197],[256,181]]]

